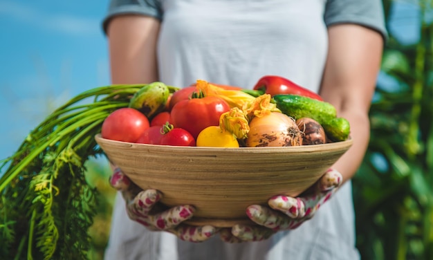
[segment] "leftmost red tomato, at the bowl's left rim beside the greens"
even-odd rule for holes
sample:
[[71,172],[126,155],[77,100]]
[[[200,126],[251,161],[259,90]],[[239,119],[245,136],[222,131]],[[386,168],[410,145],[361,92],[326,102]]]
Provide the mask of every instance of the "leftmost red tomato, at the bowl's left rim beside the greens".
[[102,122],[101,136],[122,142],[136,142],[141,133],[149,128],[149,120],[136,109],[128,107],[109,114]]

